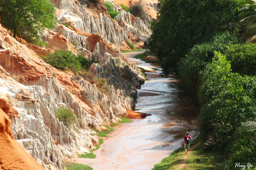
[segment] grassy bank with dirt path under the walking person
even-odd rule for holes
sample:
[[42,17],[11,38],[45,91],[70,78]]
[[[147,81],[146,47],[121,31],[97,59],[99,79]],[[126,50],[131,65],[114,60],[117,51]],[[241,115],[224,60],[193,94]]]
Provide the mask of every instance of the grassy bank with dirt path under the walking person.
[[[200,143],[200,144],[198,144]],[[197,144],[197,145],[196,145]],[[153,170],[167,169],[223,169],[226,155],[212,150],[205,150],[204,142],[200,142],[200,137],[190,144],[189,154],[186,155],[183,147],[173,151],[170,156],[164,158],[160,163],[155,164]],[[194,147],[194,148],[193,148]]]

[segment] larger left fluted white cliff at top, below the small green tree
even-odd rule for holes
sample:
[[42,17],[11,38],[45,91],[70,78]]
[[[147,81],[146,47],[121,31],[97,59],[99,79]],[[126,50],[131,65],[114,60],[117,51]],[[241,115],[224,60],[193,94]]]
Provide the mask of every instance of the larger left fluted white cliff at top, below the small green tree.
[[51,0],[55,4],[59,23],[71,20],[76,28],[89,34],[101,34],[111,43],[122,45],[128,40],[126,31],[122,29],[106,13],[100,3],[87,0]]

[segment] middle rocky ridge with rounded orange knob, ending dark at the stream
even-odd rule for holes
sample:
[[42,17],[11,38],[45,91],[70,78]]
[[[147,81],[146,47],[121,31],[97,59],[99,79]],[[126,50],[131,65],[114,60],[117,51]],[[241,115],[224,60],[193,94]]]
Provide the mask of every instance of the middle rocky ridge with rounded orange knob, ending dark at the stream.
[[[88,37],[78,35],[73,30],[59,24],[56,25],[55,30],[64,35],[72,44],[76,44],[76,48],[80,50],[81,54],[100,63],[101,66],[93,65],[90,68],[96,76],[107,78],[108,82],[113,84],[114,87],[126,90],[130,96],[136,96],[136,87],[140,87],[145,78],[135,65],[131,65],[124,60],[123,53],[111,45],[107,39],[95,34]],[[45,37],[45,40],[48,40],[48,38]],[[125,66],[129,67],[126,71],[133,75],[129,81],[125,81],[120,74],[120,69]]]

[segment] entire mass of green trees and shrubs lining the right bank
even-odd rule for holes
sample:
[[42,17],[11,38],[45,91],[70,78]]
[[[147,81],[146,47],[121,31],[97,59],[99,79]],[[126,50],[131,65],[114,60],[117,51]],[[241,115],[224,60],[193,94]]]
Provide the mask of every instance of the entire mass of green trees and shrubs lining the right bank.
[[[226,154],[225,168],[234,169],[235,162],[255,167],[256,78],[249,76],[256,75],[256,45],[235,37],[241,1],[160,2],[148,46],[162,74],[176,71],[180,85],[199,101],[198,129],[205,146]],[[243,14],[253,19],[255,2],[246,2]]]

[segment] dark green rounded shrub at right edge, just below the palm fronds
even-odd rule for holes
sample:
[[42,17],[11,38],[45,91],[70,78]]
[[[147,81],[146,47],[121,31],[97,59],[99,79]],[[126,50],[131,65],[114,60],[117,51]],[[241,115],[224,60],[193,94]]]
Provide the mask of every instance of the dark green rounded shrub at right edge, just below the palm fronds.
[[248,76],[256,75],[256,44],[231,45],[225,55],[231,62],[233,72]]

